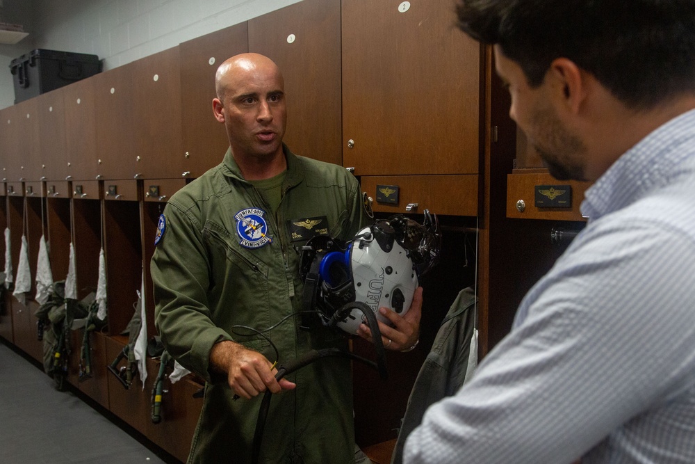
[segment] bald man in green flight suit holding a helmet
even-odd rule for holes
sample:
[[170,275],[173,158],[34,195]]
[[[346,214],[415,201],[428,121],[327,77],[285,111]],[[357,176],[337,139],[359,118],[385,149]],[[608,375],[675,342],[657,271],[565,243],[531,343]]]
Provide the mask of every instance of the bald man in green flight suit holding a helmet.
[[[172,195],[152,258],[161,341],[206,380],[188,462],[250,461],[258,395],[268,389],[282,393],[270,402],[261,462],[353,463],[350,361],[318,360],[280,381],[273,363],[311,349],[347,349],[336,331],[304,330],[300,315],[291,316],[304,309],[295,246],[316,234],[352,239],[367,221],[359,183],[341,166],[299,157],[282,143],[284,81],[269,58],[229,58],[215,86],[213,113],[229,150]],[[298,232],[297,223],[313,227]],[[416,343],[421,291],[415,300],[404,317],[389,312],[393,328],[379,323],[388,349]],[[275,326],[265,335],[279,359],[268,339],[238,326]]]

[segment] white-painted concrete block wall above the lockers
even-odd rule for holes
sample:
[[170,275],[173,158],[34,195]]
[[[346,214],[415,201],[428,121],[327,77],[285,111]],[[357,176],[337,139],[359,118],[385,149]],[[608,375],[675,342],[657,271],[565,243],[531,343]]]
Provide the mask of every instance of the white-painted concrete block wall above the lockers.
[[0,45],[0,109],[15,101],[10,62],[33,49],[95,54],[104,70],[301,0],[4,0],[27,38]]

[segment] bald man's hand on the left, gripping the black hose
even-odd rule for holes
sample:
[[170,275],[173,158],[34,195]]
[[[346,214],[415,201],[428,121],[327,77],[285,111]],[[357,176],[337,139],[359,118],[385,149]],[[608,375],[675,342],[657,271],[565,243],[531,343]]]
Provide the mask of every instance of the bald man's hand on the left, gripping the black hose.
[[275,379],[277,369],[258,351],[225,340],[210,351],[211,367],[227,374],[229,387],[240,397],[251,399],[268,388],[273,393],[293,390],[297,385],[285,378]]

